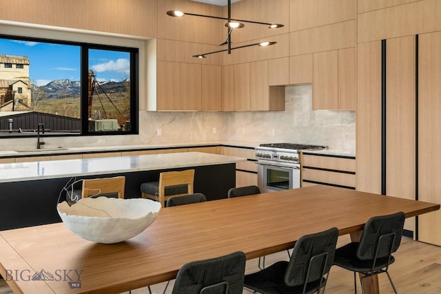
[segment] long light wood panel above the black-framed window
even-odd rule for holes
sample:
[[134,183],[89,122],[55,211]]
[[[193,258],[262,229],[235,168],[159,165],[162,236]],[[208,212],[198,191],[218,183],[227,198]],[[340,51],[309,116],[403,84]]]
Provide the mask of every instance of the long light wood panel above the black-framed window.
[[0,19],[94,32],[156,37],[157,0],[2,1]]

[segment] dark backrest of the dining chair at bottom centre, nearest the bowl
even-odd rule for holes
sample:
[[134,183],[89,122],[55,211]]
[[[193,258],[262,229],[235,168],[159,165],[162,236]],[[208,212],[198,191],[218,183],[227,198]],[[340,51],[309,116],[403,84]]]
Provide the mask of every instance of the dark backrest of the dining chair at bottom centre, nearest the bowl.
[[[172,294],[242,294],[245,260],[245,253],[238,251],[184,264],[178,271]],[[209,291],[202,291],[207,287]]]

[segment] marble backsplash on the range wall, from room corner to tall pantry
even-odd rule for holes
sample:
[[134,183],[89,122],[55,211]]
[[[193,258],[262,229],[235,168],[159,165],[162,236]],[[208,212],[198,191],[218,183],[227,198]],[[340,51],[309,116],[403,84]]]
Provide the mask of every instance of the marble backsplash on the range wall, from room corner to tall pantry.
[[285,87],[285,112],[230,112],[228,140],[305,143],[356,148],[356,114],[349,110],[312,110],[311,85]]

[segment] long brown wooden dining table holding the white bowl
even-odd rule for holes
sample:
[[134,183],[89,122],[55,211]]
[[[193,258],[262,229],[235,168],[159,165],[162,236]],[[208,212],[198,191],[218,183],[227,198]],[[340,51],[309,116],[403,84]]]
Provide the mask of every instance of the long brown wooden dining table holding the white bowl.
[[[117,244],[46,224],[0,232],[0,274],[14,293],[121,293],[172,280],[193,260],[234,251],[249,260],[330,227],[356,235],[372,216],[403,211],[410,218],[437,209],[440,204],[313,186],[163,208],[143,233]],[[378,291],[376,283],[368,291]]]

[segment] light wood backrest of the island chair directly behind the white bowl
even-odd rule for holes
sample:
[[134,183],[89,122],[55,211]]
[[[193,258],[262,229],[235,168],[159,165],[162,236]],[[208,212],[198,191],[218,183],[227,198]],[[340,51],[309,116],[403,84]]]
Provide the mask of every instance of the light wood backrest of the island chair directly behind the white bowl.
[[99,196],[100,194],[109,194],[109,193],[118,193],[118,198],[124,198],[124,186],[125,186],[125,176],[83,180],[83,189],[81,190],[81,198],[87,198],[90,196]]

